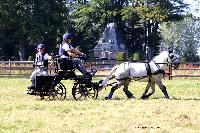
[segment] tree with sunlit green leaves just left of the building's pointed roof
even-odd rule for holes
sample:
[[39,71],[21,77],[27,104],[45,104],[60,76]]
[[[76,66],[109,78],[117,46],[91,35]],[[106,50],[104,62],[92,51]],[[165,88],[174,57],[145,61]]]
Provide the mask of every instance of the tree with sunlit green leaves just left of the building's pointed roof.
[[125,0],[91,0],[86,4],[76,4],[72,15],[80,40],[77,44],[83,44],[84,50],[93,49],[107,23],[115,21],[118,28],[121,28],[120,10],[124,2]]

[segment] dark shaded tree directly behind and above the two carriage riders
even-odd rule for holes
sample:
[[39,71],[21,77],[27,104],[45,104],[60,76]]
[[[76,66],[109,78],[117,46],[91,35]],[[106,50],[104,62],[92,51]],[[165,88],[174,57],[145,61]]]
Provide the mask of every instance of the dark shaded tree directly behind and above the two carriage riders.
[[44,43],[52,51],[62,41],[62,35],[71,26],[69,9],[63,0],[35,0],[31,11],[28,39],[30,45]]

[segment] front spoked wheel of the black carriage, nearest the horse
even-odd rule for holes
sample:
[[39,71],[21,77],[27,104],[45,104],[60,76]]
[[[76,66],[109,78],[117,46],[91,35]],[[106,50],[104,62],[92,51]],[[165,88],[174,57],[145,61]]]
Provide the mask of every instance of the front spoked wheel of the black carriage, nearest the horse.
[[72,95],[76,100],[97,99],[98,87],[96,83],[75,84],[72,88]]

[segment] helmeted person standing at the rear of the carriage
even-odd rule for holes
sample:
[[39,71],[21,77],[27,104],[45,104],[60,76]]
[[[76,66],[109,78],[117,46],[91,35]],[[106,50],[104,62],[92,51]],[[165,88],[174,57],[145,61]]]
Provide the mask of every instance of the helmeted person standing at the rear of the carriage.
[[51,59],[51,56],[45,52],[45,45],[39,44],[37,46],[37,53],[35,56],[35,61],[33,67],[35,70],[32,72],[30,79],[32,84],[28,86],[27,94],[33,94],[35,91],[35,82],[37,75],[47,75],[48,74],[48,60]]

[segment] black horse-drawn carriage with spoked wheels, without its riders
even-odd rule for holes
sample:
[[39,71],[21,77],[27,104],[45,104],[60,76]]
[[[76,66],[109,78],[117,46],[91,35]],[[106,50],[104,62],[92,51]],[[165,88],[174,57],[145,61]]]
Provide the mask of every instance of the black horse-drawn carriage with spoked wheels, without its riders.
[[72,95],[75,100],[97,98],[99,83],[93,82],[92,77],[76,75],[72,60],[55,57],[53,64],[55,74],[36,76],[35,95],[40,96],[41,99],[64,100],[66,87],[61,81],[74,80]]

